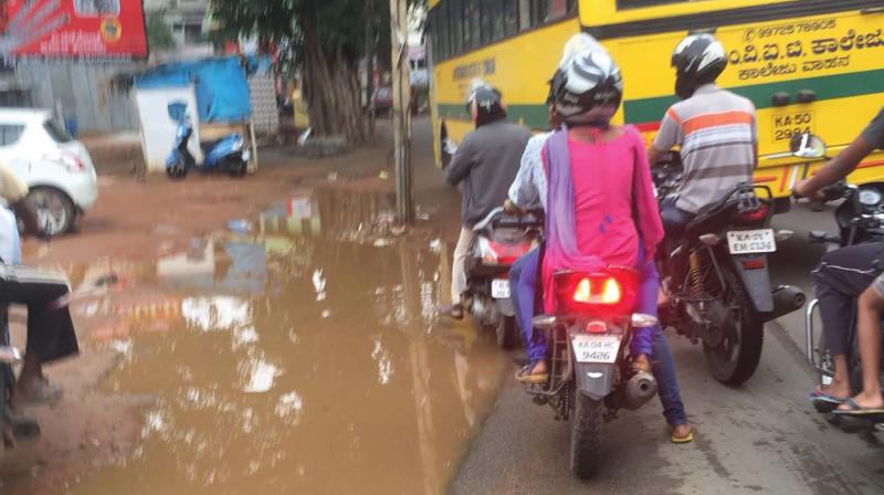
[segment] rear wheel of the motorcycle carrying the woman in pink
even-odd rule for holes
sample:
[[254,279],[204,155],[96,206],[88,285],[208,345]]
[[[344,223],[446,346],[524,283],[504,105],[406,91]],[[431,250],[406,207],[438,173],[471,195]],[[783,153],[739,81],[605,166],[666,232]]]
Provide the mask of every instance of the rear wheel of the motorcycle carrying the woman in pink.
[[580,391],[573,393],[575,409],[571,418],[571,472],[580,480],[599,474],[602,453],[604,404]]

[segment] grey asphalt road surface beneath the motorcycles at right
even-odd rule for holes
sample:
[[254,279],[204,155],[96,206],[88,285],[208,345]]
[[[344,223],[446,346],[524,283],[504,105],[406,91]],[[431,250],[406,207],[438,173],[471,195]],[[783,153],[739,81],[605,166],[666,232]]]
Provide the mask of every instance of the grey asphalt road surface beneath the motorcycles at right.
[[[822,254],[807,232],[832,229],[831,211],[797,206],[775,221],[796,231],[772,257],[776,283],[810,296],[810,270]],[[696,440],[669,441],[654,400],[607,426],[604,464],[592,481],[568,468],[569,423],[530,402],[511,381],[453,481],[455,494],[881,494],[884,434],[848,434],[807,400],[814,375],[806,362],[803,312],[766,327],[761,364],[739,388],[716,382],[703,351],[670,336],[682,396]]]

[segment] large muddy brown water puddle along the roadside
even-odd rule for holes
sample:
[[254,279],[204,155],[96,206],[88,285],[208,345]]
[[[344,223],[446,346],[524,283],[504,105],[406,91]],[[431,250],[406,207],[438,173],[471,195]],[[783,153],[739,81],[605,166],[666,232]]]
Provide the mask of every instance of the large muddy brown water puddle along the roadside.
[[443,492],[511,358],[440,318],[451,246],[397,238],[391,204],[305,192],[118,266],[77,310],[126,355],[103,387],[157,401],[136,451],[73,493]]

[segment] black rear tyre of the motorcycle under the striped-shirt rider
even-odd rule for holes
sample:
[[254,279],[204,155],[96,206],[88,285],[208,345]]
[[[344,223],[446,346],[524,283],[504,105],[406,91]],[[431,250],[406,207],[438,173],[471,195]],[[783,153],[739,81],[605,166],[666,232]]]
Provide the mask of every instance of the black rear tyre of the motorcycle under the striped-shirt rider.
[[[706,358],[706,367],[709,369],[713,378],[719,382],[738,387],[746,380],[751,378],[755,370],[758,368],[758,362],[761,360],[761,348],[765,343],[765,324],[755,310],[753,301],[746,293],[739,276],[730,268],[722,271],[725,284],[729,288],[732,297],[736,301],[726,301],[728,306],[736,303],[740,308],[740,328],[739,328],[739,349],[736,357],[730,361],[723,361],[722,357],[716,351],[719,346],[711,347],[703,343],[703,355]],[[722,344],[724,345],[724,343]]]

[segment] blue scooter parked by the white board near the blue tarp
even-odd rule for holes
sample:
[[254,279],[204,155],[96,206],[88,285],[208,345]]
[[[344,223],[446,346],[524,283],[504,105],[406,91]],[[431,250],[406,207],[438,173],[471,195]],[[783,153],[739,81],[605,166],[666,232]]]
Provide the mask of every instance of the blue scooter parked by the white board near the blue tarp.
[[[170,179],[183,179],[192,168],[198,168],[197,160],[188,149],[193,125],[187,115],[187,104],[171,103],[168,106],[169,118],[178,123],[175,147],[166,159],[166,173]],[[245,146],[245,138],[240,133],[229,134],[217,141],[200,143],[204,159],[199,166],[204,172],[220,170],[233,177],[245,177],[252,154]]]

